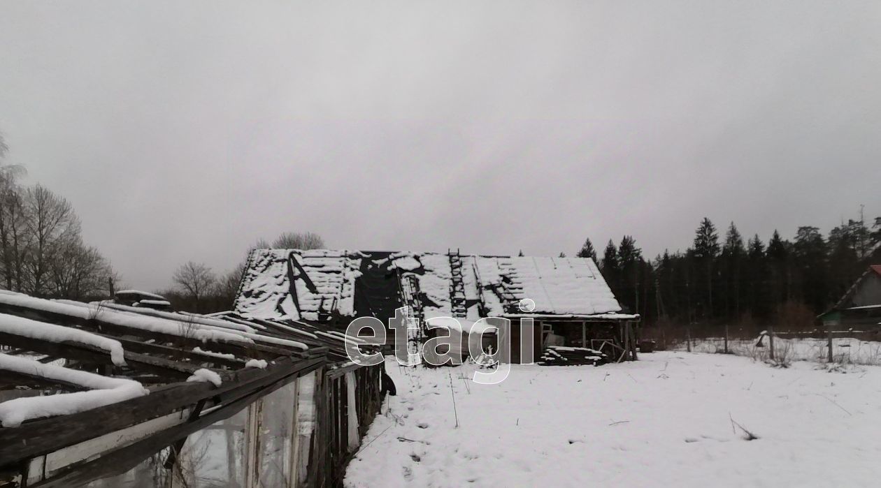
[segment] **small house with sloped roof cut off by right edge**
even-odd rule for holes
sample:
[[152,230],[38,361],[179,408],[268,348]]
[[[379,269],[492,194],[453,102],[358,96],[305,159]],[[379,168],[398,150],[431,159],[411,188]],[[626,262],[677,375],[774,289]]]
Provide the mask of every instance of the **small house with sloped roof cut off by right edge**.
[[881,265],[871,265],[841,299],[819,317],[833,330],[881,329]]

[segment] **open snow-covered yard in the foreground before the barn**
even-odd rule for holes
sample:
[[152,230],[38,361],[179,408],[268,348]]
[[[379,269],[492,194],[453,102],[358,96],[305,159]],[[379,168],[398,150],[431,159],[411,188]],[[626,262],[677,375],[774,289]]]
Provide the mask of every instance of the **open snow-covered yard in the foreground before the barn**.
[[515,366],[498,385],[464,379],[472,367],[389,362],[398,395],[345,485],[877,486],[881,368],[682,352],[640,360]]

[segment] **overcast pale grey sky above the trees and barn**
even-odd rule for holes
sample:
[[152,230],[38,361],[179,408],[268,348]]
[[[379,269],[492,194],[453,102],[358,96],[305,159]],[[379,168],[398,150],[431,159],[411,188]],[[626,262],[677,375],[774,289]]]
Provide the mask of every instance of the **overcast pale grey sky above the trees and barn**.
[[258,237],[649,256],[881,215],[881,2],[0,0],[7,163],[126,284]]

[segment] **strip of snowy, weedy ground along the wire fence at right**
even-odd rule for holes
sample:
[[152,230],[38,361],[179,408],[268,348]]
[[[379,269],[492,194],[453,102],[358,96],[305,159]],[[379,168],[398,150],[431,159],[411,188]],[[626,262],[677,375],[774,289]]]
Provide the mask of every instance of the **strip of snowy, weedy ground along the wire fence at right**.
[[[768,359],[768,339],[757,347],[757,339],[729,340],[728,350],[738,356],[746,356],[766,361]],[[675,349],[686,350],[685,343],[678,344]],[[692,339],[692,353],[722,353],[724,339]],[[774,338],[774,352],[777,358],[789,361],[826,362],[828,349],[826,339],[780,339]],[[881,366],[881,342],[866,341],[852,338],[833,339],[833,358],[842,364],[862,364]]]

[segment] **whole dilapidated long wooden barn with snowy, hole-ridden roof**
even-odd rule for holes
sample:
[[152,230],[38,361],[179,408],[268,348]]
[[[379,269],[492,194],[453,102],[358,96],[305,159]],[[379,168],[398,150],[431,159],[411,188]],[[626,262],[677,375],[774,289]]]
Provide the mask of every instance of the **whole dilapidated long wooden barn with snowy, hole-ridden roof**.
[[[248,258],[233,308],[245,317],[345,326],[356,317],[388,324],[404,307],[420,321],[455,317],[466,328],[509,319],[510,330],[496,338],[502,361],[535,361],[545,346],[589,347],[615,361],[636,355],[640,317],[622,313],[596,263],[584,258],[261,249]],[[532,320],[532,351],[508,347],[521,343],[521,318]]]

